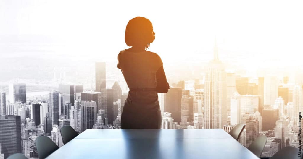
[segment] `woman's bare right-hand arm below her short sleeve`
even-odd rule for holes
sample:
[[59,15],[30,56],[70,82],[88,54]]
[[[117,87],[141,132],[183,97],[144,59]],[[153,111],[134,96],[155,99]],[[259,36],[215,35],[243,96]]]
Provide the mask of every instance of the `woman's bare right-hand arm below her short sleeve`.
[[167,83],[163,65],[156,72],[157,77],[157,87],[158,93],[167,93],[169,89],[169,84]]

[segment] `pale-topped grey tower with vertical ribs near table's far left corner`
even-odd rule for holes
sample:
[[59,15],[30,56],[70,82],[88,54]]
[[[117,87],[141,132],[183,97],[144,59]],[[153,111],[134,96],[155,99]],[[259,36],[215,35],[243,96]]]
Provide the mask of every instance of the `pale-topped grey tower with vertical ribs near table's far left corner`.
[[81,128],[82,132],[92,129],[96,121],[97,104],[95,101],[81,101]]

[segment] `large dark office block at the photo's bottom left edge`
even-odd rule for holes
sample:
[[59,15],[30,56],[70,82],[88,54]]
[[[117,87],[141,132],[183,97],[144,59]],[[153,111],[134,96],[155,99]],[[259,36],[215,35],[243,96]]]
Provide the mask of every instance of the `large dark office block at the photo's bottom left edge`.
[[0,143],[4,158],[22,153],[21,120],[16,115],[0,115]]

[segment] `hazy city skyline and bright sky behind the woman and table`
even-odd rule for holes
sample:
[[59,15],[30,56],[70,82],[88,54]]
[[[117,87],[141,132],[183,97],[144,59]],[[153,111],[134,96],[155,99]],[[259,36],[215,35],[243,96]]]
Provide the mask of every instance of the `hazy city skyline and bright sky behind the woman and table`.
[[158,94],[162,129],[244,123],[245,147],[268,137],[261,157],[298,147],[301,4],[0,1],[0,159],[38,158],[41,135],[61,147],[64,125],[121,128],[128,88],[117,56],[136,16],[153,23],[150,51],[171,86]]

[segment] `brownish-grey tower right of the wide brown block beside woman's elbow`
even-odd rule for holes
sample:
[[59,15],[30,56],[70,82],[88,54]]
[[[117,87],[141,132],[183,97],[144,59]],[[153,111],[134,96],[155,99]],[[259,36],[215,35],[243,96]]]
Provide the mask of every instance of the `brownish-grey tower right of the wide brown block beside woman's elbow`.
[[187,126],[187,122],[192,122],[194,118],[194,98],[183,95],[181,98],[181,122],[180,125]]

